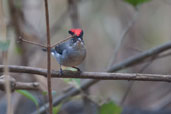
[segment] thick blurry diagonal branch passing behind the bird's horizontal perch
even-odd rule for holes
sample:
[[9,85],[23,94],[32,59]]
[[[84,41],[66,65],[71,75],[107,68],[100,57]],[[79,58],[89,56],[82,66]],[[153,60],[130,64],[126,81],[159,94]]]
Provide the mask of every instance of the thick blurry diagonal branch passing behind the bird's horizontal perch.
[[[171,49],[171,42],[168,42],[168,43],[165,43],[165,44],[158,46],[156,48],[147,50],[141,54],[130,57],[130,58],[122,61],[121,63],[115,64],[111,68],[109,68],[107,70],[107,72],[116,72],[116,71],[122,70],[124,68],[133,66],[135,64],[143,62],[145,59],[147,59],[149,57],[153,57],[153,56],[158,55],[159,53],[162,53],[162,52],[169,50],[169,49]],[[70,88],[70,90],[68,92],[66,92],[64,95],[61,95],[58,98],[54,98],[53,105],[56,106],[59,103],[61,103],[64,99],[72,97],[74,95],[78,95],[80,93],[80,89],[83,89],[83,90],[88,89],[89,87],[91,87],[92,85],[97,83],[98,81],[99,80],[87,80],[80,86],[80,88]],[[42,113],[47,108],[48,108],[48,104],[45,104],[39,108],[38,112]],[[33,112],[32,114],[37,114],[37,111]]]

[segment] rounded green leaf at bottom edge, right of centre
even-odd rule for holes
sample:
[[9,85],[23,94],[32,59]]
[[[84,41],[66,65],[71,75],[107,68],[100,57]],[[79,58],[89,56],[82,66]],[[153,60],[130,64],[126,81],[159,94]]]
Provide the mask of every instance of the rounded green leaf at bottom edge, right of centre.
[[121,107],[116,105],[113,101],[109,101],[100,107],[100,114],[121,114],[121,112]]

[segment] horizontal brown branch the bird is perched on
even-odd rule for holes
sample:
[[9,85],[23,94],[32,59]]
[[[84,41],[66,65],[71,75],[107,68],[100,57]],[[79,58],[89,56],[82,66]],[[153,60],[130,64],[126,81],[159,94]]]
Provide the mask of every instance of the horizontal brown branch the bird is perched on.
[[[15,73],[28,73],[47,76],[47,70],[34,67],[9,65],[9,71]],[[0,72],[4,65],[0,65]],[[171,82],[171,75],[139,74],[139,73],[107,73],[107,72],[72,72],[64,71],[62,77],[58,71],[52,71],[53,78],[81,78],[98,80],[137,80],[137,81],[164,81]]]

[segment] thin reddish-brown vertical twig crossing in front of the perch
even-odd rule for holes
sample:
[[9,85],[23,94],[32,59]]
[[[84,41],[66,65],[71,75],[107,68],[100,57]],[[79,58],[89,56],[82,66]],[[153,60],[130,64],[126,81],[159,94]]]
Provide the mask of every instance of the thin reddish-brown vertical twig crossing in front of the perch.
[[52,114],[52,87],[51,87],[51,61],[50,61],[50,25],[49,25],[49,11],[48,0],[45,2],[45,16],[46,16],[46,32],[47,32],[47,84],[48,84],[48,97],[49,97],[49,114]]

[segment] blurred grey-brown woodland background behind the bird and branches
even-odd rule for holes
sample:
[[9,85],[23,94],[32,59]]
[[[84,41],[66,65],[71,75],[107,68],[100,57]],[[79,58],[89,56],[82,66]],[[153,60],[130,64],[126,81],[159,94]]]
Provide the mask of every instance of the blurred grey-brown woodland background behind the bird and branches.
[[[70,28],[80,27],[84,30],[83,38],[87,48],[87,57],[80,66],[83,71],[106,71],[113,64],[171,40],[170,0],[149,0],[136,8],[124,0],[48,1],[51,44],[69,36]],[[69,1],[74,1],[76,5],[70,6]],[[23,36],[29,41],[46,45],[44,1],[8,0],[3,7],[7,23],[7,38],[11,42],[9,64],[46,68],[47,55],[41,47],[17,43],[19,36]],[[0,57],[2,64],[2,55]],[[51,57],[51,61],[52,69],[59,70],[59,64],[55,58]],[[120,72],[171,74],[170,61],[171,57],[166,56],[143,62]],[[41,91],[47,91],[46,78],[28,74],[11,73],[10,75],[22,82],[38,81],[41,84]],[[81,80],[81,83],[83,81]],[[61,95],[63,90],[70,86],[73,86],[73,83],[59,78],[52,79],[55,97]],[[41,104],[47,102],[47,98],[44,98],[41,92],[33,91],[32,93]],[[89,88],[88,93],[89,98],[97,104],[109,99],[114,101],[122,107],[122,113],[125,114],[170,113],[169,111],[160,112],[170,109],[170,83],[100,81]],[[35,110],[33,103],[22,95],[14,92],[12,97],[15,114],[23,114],[23,112],[31,114]],[[81,98],[75,99],[80,102],[78,99]],[[2,112],[3,110],[5,112],[5,101],[4,92],[0,91],[0,111]],[[68,102],[71,102],[71,99]],[[123,107],[129,110],[124,110]],[[143,112],[144,110],[147,112]],[[0,114],[4,114],[2,112]],[[61,112],[61,114],[68,113]]]

